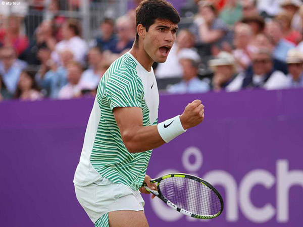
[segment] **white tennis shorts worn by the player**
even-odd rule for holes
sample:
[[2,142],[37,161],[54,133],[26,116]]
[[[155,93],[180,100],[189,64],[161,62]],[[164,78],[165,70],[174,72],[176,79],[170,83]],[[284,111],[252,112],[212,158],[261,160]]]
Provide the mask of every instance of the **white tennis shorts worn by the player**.
[[140,191],[124,184],[115,184],[106,178],[87,185],[75,185],[77,199],[93,223],[104,214],[117,210],[143,210]]

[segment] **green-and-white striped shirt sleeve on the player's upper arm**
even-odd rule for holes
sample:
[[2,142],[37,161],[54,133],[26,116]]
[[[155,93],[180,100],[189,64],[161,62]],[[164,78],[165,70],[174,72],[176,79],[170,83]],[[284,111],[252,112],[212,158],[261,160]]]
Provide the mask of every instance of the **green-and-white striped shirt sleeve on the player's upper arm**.
[[115,107],[141,107],[143,99],[142,81],[137,76],[113,76],[106,84],[109,105]]

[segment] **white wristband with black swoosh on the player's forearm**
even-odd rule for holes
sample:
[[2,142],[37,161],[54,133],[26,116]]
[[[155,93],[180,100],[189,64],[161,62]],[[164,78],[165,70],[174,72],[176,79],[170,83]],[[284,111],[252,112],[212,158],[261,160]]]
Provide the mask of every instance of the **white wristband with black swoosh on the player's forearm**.
[[159,123],[157,127],[160,136],[166,143],[186,132],[182,127],[180,115]]

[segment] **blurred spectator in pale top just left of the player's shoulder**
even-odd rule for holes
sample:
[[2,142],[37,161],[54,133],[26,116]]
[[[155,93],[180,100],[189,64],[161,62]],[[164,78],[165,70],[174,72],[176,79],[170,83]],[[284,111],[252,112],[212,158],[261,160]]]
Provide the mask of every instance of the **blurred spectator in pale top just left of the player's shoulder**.
[[97,87],[101,77],[103,76],[103,54],[97,47],[92,47],[88,51],[89,68],[82,73],[81,83],[91,83],[93,87]]

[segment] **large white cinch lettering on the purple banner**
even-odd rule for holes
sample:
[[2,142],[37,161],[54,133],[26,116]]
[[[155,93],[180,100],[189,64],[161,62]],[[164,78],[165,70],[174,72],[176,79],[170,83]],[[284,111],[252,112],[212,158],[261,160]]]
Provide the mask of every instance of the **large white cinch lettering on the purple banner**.
[[[194,156],[195,161],[190,163],[189,157]],[[196,147],[188,147],[182,154],[182,165],[187,173],[196,175],[196,172],[203,164],[203,154]],[[303,170],[289,170],[288,160],[276,160],[276,176],[266,169],[253,169],[245,174],[239,185],[234,177],[220,169],[210,171],[203,179],[210,182],[212,185],[222,186],[225,191],[224,213],[226,221],[236,222],[239,219],[239,210],[250,221],[256,223],[264,223],[272,219],[276,215],[278,223],[285,223],[289,220],[289,190],[292,186],[298,185],[303,187]],[[165,169],[158,174],[157,177],[168,173],[182,172],[177,169]],[[276,188],[276,207],[269,201],[265,201],[262,207],[256,207],[251,199],[251,190],[261,185],[266,189]],[[223,193],[223,192],[222,192]],[[177,221],[183,217],[183,214],[176,212],[166,206],[159,199],[150,199],[151,207],[159,218],[165,221]],[[198,221],[198,219],[186,217],[188,221]],[[207,220],[201,220],[207,221]]]

